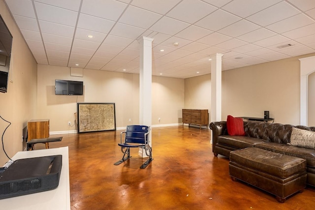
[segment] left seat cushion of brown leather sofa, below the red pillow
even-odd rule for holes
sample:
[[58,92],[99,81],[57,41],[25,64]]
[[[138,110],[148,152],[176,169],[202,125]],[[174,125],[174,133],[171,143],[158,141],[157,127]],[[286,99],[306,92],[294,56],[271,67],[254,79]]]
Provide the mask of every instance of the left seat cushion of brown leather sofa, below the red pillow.
[[263,139],[256,139],[248,136],[218,136],[218,144],[226,145],[229,147],[244,149],[253,147],[256,144],[266,143]]

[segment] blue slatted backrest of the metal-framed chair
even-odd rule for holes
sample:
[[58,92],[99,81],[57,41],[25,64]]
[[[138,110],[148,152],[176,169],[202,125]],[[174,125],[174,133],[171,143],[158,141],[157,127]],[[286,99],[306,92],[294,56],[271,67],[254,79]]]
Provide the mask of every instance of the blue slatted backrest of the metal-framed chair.
[[125,142],[126,143],[148,144],[149,135],[147,135],[147,137],[145,137],[146,133],[149,133],[149,126],[127,125]]

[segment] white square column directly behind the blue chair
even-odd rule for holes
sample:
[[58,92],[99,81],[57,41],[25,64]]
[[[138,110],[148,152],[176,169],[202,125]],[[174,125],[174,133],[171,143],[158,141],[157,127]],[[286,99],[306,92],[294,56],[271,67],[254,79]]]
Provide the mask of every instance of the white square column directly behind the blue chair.
[[[139,122],[151,127],[152,124],[152,42],[154,39],[143,36],[140,40],[140,110]],[[152,146],[150,130],[149,145]],[[139,149],[139,155],[147,157],[145,150]]]

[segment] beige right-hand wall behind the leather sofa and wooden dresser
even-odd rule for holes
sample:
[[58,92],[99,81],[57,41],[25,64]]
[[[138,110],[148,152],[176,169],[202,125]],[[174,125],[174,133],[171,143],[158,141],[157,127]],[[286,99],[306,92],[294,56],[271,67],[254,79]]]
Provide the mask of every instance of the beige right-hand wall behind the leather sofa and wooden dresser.
[[[261,63],[222,72],[222,115],[235,117],[263,117],[270,112],[275,122],[300,123],[300,61],[299,58]],[[185,79],[185,108],[211,107],[209,75]],[[313,107],[315,76],[309,77],[309,126],[315,126]],[[202,94],[201,94],[202,93]],[[209,99],[209,100],[208,100]],[[207,105],[204,104],[208,100]],[[310,108],[312,107],[312,108]],[[210,113],[211,114],[211,113]]]

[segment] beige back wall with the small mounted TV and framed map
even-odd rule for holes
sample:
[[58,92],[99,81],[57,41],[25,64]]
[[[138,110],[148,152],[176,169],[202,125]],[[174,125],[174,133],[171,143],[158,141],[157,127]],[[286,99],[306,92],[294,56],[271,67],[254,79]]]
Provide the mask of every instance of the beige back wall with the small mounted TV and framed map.
[[[55,95],[56,79],[83,81],[84,95]],[[152,83],[152,124],[178,123],[184,106],[184,79],[154,76]],[[117,128],[138,124],[139,74],[83,69],[83,77],[72,77],[68,67],[38,64],[37,118],[50,119],[51,133],[75,130],[67,124],[74,123],[77,101],[115,103]]]

